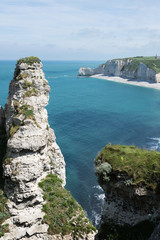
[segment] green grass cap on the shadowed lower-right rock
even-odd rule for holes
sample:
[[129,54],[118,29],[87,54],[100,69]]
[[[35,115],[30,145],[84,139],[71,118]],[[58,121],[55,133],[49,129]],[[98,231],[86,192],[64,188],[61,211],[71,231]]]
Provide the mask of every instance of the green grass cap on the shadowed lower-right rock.
[[140,149],[135,146],[108,144],[95,159],[96,166],[109,163],[112,172],[125,172],[133,185],[159,189],[160,152]]

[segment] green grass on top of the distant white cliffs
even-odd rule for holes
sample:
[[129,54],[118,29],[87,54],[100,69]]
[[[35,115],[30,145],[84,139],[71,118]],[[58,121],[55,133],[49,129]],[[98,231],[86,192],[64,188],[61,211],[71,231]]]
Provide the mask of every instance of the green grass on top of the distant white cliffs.
[[140,62],[144,63],[148,68],[153,69],[156,73],[160,73],[160,59],[155,59],[155,57],[129,57],[129,58],[119,58],[114,60],[124,60],[125,62],[131,59],[132,63],[125,66],[122,70],[124,71],[136,71]]

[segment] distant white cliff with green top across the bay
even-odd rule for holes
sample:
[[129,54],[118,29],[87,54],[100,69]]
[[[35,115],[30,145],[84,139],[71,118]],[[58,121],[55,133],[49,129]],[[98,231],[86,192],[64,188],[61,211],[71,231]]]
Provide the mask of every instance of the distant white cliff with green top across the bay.
[[134,57],[108,60],[98,68],[80,68],[79,76],[103,74],[148,82],[160,82],[160,59]]

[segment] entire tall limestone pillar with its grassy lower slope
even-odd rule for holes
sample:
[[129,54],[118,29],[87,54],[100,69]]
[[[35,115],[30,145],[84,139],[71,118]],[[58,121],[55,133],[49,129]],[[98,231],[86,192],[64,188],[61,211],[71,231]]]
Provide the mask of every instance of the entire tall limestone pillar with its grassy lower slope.
[[94,236],[95,228],[81,206],[63,188],[65,162],[45,109],[49,91],[41,61],[35,57],[20,59],[5,110],[0,109],[0,126],[7,139],[3,153],[6,203],[0,195],[2,216],[1,203],[8,208],[0,221],[3,240]]

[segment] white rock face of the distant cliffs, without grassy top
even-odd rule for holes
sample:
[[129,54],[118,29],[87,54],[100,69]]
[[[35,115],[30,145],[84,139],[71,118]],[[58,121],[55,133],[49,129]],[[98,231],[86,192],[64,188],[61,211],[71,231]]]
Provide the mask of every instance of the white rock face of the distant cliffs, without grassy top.
[[108,60],[98,68],[80,68],[79,76],[103,74],[105,76],[118,76],[130,79],[139,79],[148,82],[160,82],[160,74],[147,67],[142,62],[135,68],[132,59]]

